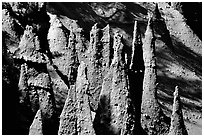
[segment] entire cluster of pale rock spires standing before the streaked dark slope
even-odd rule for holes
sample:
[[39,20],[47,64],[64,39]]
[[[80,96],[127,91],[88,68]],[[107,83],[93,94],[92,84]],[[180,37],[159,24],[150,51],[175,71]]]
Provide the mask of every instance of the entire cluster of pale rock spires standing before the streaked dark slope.
[[[57,16],[49,16],[49,28],[41,20],[26,25],[15,52],[15,59],[22,62],[21,101],[35,115],[29,134],[187,134],[178,87],[171,123],[157,98],[155,32],[162,30],[155,26],[158,20],[165,24],[157,5],[143,42],[135,21],[129,64],[123,36],[115,32],[112,44],[109,25],[100,29],[95,24],[85,45],[81,29],[68,30]],[[46,40],[39,39],[42,30]],[[54,95],[62,89],[68,95],[59,120]]]

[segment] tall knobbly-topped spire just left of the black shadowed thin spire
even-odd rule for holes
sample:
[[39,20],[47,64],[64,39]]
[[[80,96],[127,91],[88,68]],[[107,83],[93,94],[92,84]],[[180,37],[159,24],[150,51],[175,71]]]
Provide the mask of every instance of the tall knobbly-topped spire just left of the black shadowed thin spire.
[[110,92],[110,128],[114,134],[132,134],[134,130],[134,113],[128,113],[132,107],[129,98],[128,81],[123,54],[122,35],[114,35],[114,57],[111,64],[113,73]]

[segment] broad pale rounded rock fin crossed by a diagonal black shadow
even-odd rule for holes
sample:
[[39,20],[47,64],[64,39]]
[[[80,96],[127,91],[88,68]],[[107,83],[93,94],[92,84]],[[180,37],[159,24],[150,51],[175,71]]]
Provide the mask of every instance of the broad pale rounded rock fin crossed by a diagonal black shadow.
[[76,36],[69,31],[56,15],[49,14],[50,28],[48,42],[51,63],[47,65],[53,82],[56,105],[63,108],[61,101],[65,101],[70,85],[76,81],[78,58],[76,55]]

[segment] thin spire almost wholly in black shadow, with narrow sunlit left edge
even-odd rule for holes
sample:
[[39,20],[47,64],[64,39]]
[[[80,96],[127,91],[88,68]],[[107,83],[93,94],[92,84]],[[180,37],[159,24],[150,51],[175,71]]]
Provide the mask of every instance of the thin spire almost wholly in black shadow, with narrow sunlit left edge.
[[144,78],[144,61],[142,51],[141,34],[137,21],[134,24],[132,56],[128,70],[129,92],[130,98],[134,104],[135,113],[135,129],[134,134],[145,134],[141,128],[141,103]]

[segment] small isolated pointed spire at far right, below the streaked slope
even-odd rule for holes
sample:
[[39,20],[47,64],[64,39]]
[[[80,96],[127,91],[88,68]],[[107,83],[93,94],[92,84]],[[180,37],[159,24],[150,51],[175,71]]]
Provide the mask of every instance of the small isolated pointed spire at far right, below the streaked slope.
[[179,87],[175,87],[174,92],[174,102],[173,102],[173,110],[171,116],[171,126],[169,129],[169,135],[188,135],[186,130],[184,121],[183,121],[183,113],[182,106],[179,96]]

